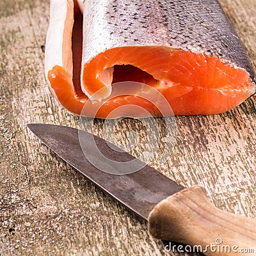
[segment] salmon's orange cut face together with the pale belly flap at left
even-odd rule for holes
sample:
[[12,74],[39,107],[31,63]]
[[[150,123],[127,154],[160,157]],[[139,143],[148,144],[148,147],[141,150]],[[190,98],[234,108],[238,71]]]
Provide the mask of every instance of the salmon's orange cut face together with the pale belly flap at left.
[[[57,0],[52,2],[54,1]],[[145,86],[138,87],[133,92],[134,95],[125,95],[128,88],[115,88],[116,83],[126,81],[147,84],[157,90],[170,104],[175,115],[223,113],[235,108],[256,92],[255,83],[243,68],[234,67],[219,57],[171,46],[112,47],[95,54],[89,61],[84,61],[83,15],[76,6],[77,4],[74,9],[70,1],[67,1],[65,12],[62,11],[61,14],[63,22],[59,22],[54,36],[51,36],[54,29],[50,22],[45,55],[45,72],[51,89],[60,104],[72,113],[80,115],[89,100],[92,104],[102,103],[96,115],[99,118],[109,118],[115,108],[125,105],[140,106],[153,116],[162,115],[154,105],[154,101],[159,101],[157,93],[154,95],[154,92],[148,90],[151,102],[140,97],[141,93],[145,93],[141,91]],[[49,47],[56,36],[62,38],[62,43],[58,41],[62,45],[60,49]],[[52,56],[55,62],[52,62]],[[68,56],[72,56],[72,63]],[[118,96],[109,100],[116,90],[122,93],[117,92]],[[143,111],[130,113],[127,109],[120,109],[111,118],[145,115]],[[93,115],[91,110],[86,109],[83,115]]]

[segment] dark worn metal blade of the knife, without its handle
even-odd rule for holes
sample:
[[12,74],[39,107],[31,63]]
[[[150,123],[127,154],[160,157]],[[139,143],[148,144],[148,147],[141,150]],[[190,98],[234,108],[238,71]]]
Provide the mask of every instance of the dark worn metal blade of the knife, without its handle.
[[[184,189],[148,165],[138,172],[126,175],[102,172],[84,156],[77,129],[50,124],[28,124],[28,127],[64,161],[145,220],[158,202]],[[83,136],[86,138],[92,134],[84,132]],[[102,152],[112,158],[116,156],[118,161],[135,159],[127,152],[116,152],[98,136],[94,136],[94,139]],[[90,148],[90,145],[88,147]],[[115,148],[114,145],[113,148]],[[97,161],[102,160],[97,159]]]

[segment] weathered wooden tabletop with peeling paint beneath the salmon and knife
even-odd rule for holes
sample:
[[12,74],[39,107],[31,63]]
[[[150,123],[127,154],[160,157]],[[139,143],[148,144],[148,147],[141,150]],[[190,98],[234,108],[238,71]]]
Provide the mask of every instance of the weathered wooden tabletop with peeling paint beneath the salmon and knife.
[[[255,0],[221,4],[255,67]],[[48,22],[49,1],[0,1],[0,255],[166,255],[143,221],[26,128],[31,122],[78,125],[45,82],[41,46]],[[204,186],[223,210],[255,217],[255,99],[223,115],[177,117],[172,156],[164,166],[156,157],[152,166],[184,186]],[[96,134],[102,134],[101,124]],[[132,120],[119,127],[121,142],[129,129],[141,132]],[[140,136],[134,154],[143,149],[143,132]]]

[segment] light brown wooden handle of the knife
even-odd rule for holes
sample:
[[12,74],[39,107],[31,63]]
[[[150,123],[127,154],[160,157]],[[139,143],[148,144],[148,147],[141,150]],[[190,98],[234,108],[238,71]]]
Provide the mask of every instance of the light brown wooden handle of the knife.
[[256,220],[214,207],[200,186],[159,202],[148,216],[148,230],[156,238],[190,245],[180,245],[183,252],[202,246],[205,255],[256,255]]

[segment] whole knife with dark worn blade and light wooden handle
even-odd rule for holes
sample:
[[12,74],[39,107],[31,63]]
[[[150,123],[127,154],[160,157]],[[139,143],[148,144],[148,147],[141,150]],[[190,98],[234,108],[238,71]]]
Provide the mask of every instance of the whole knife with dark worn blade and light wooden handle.
[[[214,207],[204,188],[184,188],[146,164],[138,172],[126,175],[102,172],[88,161],[79,143],[78,131],[85,141],[90,141],[92,134],[60,125],[28,127],[61,159],[147,220],[152,236],[180,243],[179,246],[187,244],[178,246],[181,252],[197,248],[205,255],[256,255],[256,220]],[[100,152],[113,161],[136,159],[127,152],[116,151],[115,145],[109,147],[111,143],[98,136],[93,138]],[[93,146],[87,143],[86,147],[90,152]]]

